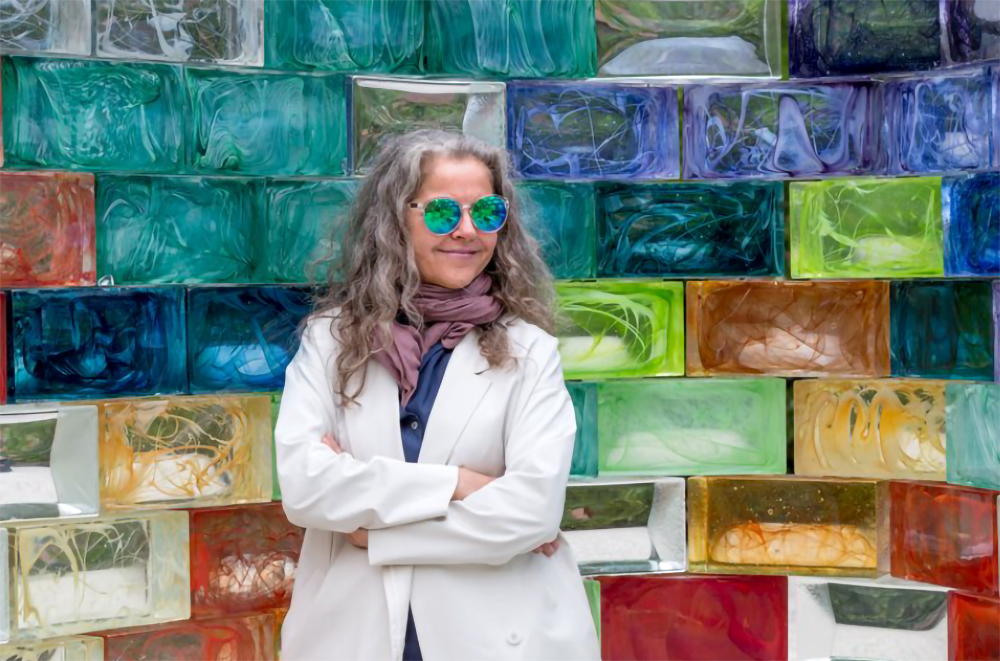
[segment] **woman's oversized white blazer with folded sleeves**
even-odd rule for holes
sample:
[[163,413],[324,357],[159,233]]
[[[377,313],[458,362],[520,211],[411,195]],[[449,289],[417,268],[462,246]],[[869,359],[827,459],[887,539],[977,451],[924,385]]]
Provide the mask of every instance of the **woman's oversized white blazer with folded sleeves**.
[[[476,331],[455,347],[406,463],[392,376],[369,361],[359,406],[341,406],[330,318],[310,320],[275,431],[284,509],[306,528],[284,661],[401,659],[408,606],[427,661],[601,658],[568,543],[531,553],[558,533],[576,433],[556,340],[508,327],[513,368],[490,368]],[[451,502],[458,466],[498,479]],[[344,534],[358,528],[367,550]]]

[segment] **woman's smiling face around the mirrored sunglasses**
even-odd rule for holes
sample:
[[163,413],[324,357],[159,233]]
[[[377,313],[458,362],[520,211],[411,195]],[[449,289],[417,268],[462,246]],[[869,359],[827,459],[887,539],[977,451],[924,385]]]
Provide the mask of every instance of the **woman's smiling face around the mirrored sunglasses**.
[[[438,156],[427,163],[423,185],[412,201],[426,204],[436,197],[450,197],[465,207],[494,193],[490,171],[478,159]],[[445,236],[427,229],[422,211],[410,209],[407,214],[417,270],[424,282],[461,289],[475,280],[493,258],[498,232],[477,230],[467,209],[462,210],[455,231]]]

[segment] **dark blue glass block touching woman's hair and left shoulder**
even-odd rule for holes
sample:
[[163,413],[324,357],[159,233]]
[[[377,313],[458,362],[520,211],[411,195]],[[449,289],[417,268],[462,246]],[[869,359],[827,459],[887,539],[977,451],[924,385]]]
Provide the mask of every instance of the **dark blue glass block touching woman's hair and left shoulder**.
[[285,383],[297,328],[311,312],[294,287],[198,287],[188,291],[192,393],[268,391]]

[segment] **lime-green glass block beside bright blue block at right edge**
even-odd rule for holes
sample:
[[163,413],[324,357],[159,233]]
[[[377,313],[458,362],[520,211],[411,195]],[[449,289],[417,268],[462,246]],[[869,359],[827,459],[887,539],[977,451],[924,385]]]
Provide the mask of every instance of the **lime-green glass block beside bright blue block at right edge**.
[[831,179],[790,189],[793,278],[944,275],[940,177]]

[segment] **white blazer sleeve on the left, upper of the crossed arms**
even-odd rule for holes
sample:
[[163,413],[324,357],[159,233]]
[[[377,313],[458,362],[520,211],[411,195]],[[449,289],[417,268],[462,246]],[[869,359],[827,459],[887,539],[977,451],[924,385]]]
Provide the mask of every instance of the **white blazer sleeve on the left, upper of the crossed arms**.
[[337,435],[334,343],[332,337],[323,342],[317,337],[329,333],[324,326],[310,322],[285,373],[275,452],[288,520],[305,528],[349,533],[444,516],[458,484],[457,467],[408,464],[389,457],[361,461],[323,444],[325,433]]

